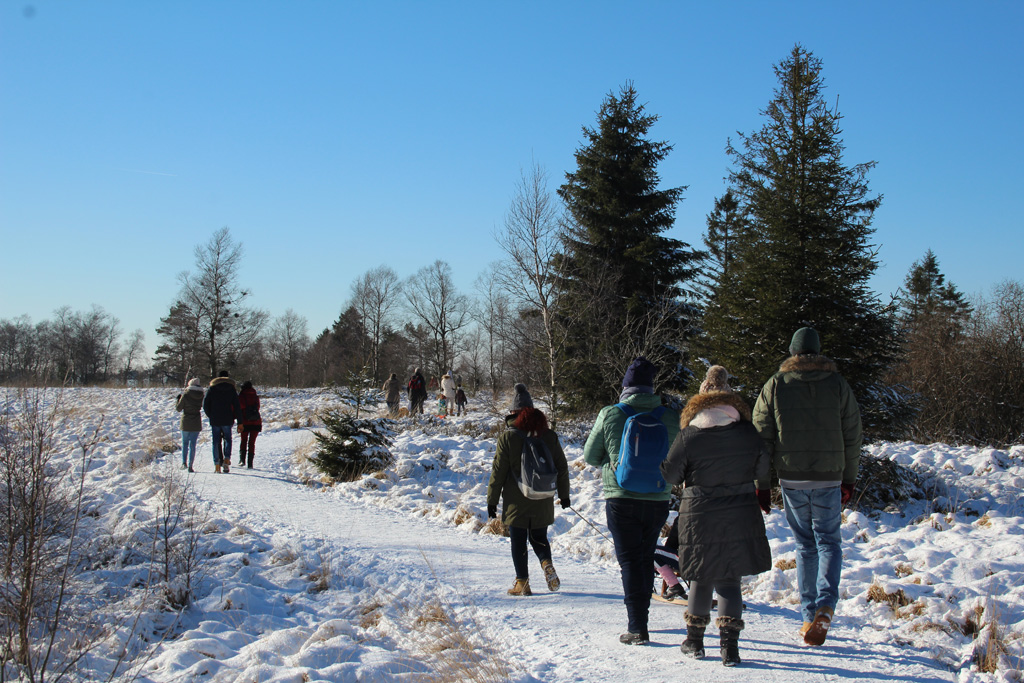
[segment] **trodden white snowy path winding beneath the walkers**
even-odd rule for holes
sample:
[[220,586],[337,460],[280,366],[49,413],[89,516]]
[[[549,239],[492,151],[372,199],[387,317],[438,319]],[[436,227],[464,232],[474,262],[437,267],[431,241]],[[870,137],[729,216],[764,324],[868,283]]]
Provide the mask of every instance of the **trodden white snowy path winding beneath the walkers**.
[[[256,470],[211,473],[209,445],[197,459],[197,490],[225,516],[269,541],[272,537],[315,538],[340,549],[341,573],[361,573],[386,584],[437,581],[454,587],[475,606],[488,633],[510,644],[508,652],[541,681],[670,681],[697,676],[705,681],[950,681],[952,675],[927,654],[889,645],[861,644],[856,632],[837,620],[821,648],[799,644],[799,617],[792,608],[751,605],[735,669],[722,667],[717,637],[707,640],[709,657],[684,659],[681,607],[651,606],[648,647],[617,642],[625,628],[617,570],[559,558],[562,589],[548,593],[531,557],[538,591],[530,598],[505,594],[513,578],[507,539],[467,533],[422,517],[359,505],[302,486],[287,472],[296,432],[265,433],[258,440]],[[236,449],[238,443],[236,443]],[[435,579],[436,578],[436,579]],[[537,590],[535,588],[535,590]],[[324,620],[334,617],[325,613]],[[712,630],[713,631],[713,630]]]

